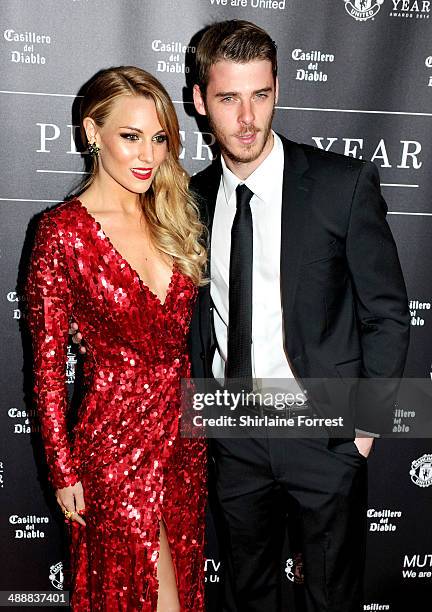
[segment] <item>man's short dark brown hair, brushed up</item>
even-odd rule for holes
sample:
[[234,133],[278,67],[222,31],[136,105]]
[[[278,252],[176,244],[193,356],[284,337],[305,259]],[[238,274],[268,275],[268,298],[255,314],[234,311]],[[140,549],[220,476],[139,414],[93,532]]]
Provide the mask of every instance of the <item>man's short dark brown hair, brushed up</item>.
[[196,76],[202,94],[207,89],[210,68],[222,60],[239,64],[268,60],[276,79],[276,44],[265,30],[250,21],[219,21],[201,38],[196,50]]

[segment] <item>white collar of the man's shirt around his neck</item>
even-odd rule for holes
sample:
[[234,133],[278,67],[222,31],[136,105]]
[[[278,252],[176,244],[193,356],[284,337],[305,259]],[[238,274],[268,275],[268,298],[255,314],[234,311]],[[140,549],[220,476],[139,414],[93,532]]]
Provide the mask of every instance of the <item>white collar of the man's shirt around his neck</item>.
[[226,203],[235,205],[235,190],[240,183],[244,183],[253,193],[264,203],[269,202],[269,195],[272,192],[272,186],[275,183],[275,173],[280,171],[283,173],[284,154],[282,141],[279,136],[273,132],[273,147],[265,160],[252,172],[245,181],[239,179],[225,163],[221,156],[222,162],[222,189],[225,193]]

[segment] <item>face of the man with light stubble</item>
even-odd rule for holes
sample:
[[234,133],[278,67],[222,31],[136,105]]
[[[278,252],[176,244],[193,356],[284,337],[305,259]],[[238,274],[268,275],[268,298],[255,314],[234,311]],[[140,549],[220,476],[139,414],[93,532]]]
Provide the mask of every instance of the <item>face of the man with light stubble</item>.
[[222,154],[239,176],[253,172],[271,150],[277,90],[268,60],[217,62],[210,68],[205,98],[194,87],[195,108],[207,115]]

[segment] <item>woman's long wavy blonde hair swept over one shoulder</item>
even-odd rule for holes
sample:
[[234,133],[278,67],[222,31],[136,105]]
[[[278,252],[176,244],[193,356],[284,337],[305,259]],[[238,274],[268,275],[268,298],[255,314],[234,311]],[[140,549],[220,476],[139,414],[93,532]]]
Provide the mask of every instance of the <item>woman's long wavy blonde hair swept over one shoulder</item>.
[[[151,187],[140,195],[143,216],[153,244],[174,258],[181,272],[196,285],[206,283],[205,228],[188,186],[189,176],[179,162],[180,133],[174,105],[163,85],[154,76],[135,66],[101,70],[92,79],[81,102],[81,137],[87,143],[83,119],[90,117],[102,127],[120,96],[144,96],[153,100],[162,129],[167,135],[168,155],[159,166]],[[87,189],[98,173],[92,156],[89,177],[80,186]]]

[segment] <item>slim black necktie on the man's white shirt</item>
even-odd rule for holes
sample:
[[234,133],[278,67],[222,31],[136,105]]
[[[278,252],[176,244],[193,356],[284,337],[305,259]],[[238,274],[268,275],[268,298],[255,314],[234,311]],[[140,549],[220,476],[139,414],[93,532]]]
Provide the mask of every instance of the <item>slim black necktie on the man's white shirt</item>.
[[226,378],[241,379],[241,388],[252,390],[252,261],[253,228],[246,185],[236,189],[237,211],[231,229],[229,276],[228,356]]

